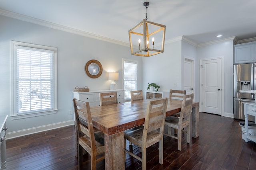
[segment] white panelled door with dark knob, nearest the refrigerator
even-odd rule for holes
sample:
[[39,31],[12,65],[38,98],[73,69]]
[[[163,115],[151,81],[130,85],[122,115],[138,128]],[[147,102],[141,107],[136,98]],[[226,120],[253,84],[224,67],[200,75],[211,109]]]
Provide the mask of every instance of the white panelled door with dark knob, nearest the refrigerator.
[[202,111],[221,115],[221,59],[202,61]]

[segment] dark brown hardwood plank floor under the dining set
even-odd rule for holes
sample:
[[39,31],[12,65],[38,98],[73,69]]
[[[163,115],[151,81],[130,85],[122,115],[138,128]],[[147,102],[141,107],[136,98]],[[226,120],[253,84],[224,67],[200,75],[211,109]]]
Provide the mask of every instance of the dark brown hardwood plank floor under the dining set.
[[[164,163],[158,164],[158,144],[147,149],[147,169],[153,170],[254,170],[256,144],[245,143],[239,121],[219,115],[200,113],[199,137],[186,143],[182,151],[177,140],[164,136]],[[36,133],[6,141],[8,170],[77,170],[74,126]],[[130,146],[127,142],[127,148]],[[132,148],[130,148],[132,149]],[[139,148],[133,151],[140,155]],[[90,156],[84,156],[90,169]],[[126,170],[141,169],[140,161],[126,154]],[[97,163],[104,169],[104,161]]]

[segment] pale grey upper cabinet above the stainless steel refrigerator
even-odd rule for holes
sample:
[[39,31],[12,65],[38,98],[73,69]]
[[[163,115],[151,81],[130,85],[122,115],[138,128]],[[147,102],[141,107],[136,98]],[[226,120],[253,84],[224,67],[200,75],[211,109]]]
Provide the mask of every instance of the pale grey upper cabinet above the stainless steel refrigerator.
[[234,45],[234,64],[254,63],[256,61],[256,42]]

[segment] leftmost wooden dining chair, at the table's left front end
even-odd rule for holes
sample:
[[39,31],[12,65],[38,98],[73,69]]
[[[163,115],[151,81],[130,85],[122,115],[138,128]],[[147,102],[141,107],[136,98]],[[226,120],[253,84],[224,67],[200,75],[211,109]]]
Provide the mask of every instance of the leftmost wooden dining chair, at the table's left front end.
[[78,169],[83,168],[83,149],[91,156],[91,170],[96,170],[96,162],[104,160],[104,133],[94,133],[89,102],[73,99],[76,116],[78,147]]

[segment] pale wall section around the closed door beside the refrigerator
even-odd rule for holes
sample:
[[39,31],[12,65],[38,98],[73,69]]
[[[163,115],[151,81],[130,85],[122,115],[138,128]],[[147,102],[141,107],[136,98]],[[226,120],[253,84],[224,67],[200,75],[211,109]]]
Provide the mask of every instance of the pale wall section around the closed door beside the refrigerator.
[[224,114],[233,114],[233,41],[198,47],[197,56],[198,59],[224,58]]

